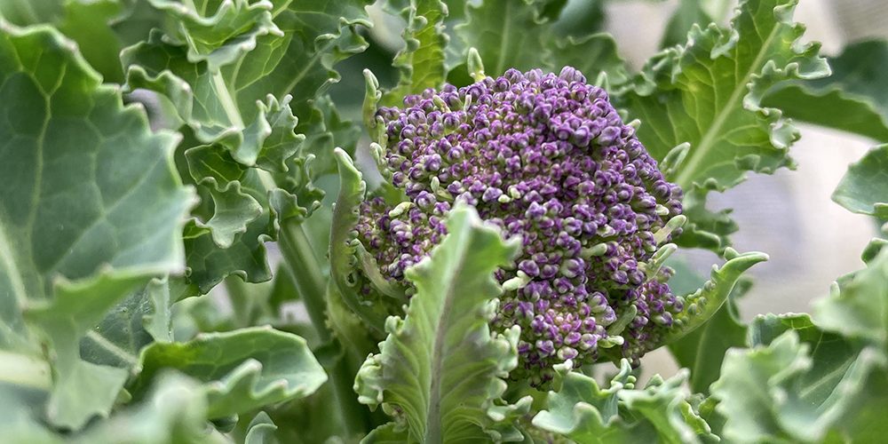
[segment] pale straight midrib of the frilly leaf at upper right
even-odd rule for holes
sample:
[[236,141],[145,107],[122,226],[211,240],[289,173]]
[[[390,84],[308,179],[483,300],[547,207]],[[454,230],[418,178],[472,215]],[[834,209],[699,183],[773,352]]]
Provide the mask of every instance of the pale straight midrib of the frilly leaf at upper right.
[[[699,166],[699,163],[701,163],[703,159],[705,159],[707,155],[709,155],[712,147],[715,147],[715,141],[718,137],[718,134],[721,132],[722,126],[724,126],[727,122],[728,116],[733,114],[733,107],[737,105],[737,101],[742,99],[742,97],[745,95],[744,92],[749,91],[747,83],[749,83],[752,75],[757,72],[758,66],[761,65],[763,60],[765,59],[765,54],[767,53],[766,49],[771,46],[771,42],[773,41],[773,38],[777,36],[780,27],[781,24],[779,22],[774,24],[774,27],[771,29],[771,33],[765,39],[765,42],[762,44],[761,49],[757,53],[756,59],[754,59],[749,65],[749,69],[747,70],[746,74],[743,75],[742,80],[735,85],[734,90],[731,93],[731,97],[728,98],[727,102],[725,103],[725,107],[722,107],[722,110],[718,113],[715,120],[712,121],[710,129],[709,131],[706,131],[706,134],[703,135],[703,139],[701,139],[700,145],[697,146],[697,149],[695,149],[691,153],[691,158],[687,160],[686,166],[681,169],[681,173],[679,173],[678,176],[675,178],[675,182],[678,184],[678,186],[681,186],[683,189],[688,189],[688,187],[691,186],[691,183],[689,183],[689,181],[693,178],[694,173],[696,172],[695,170]],[[739,41],[737,44],[739,44]],[[734,47],[734,52],[739,52],[736,46]],[[713,85],[713,89],[715,89],[715,85]]]

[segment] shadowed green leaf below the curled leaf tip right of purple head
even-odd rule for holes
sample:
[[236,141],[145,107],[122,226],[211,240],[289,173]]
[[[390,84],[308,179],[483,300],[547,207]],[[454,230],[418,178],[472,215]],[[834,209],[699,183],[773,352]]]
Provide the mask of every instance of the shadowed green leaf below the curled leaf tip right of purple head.
[[725,352],[746,345],[747,326],[740,320],[737,299],[748,289],[749,281],[737,281],[725,304],[709,321],[669,345],[678,366],[691,370],[688,385],[692,392],[709,392],[710,384],[718,379]]

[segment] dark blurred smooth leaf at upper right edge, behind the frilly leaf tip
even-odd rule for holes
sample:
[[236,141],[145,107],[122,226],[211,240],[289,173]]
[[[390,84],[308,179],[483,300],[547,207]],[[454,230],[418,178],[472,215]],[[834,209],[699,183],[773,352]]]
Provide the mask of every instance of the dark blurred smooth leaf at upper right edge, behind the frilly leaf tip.
[[[888,141],[888,42],[849,44],[829,58],[833,74],[825,79],[781,83],[763,103],[779,107],[793,119]],[[829,113],[823,110],[829,110]]]

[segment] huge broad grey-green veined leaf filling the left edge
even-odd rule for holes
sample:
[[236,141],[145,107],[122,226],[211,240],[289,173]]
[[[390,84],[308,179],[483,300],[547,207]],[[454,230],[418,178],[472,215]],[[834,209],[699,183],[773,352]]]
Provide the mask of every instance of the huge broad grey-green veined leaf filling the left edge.
[[176,137],[152,133],[144,113],[123,107],[119,91],[100,85],[50,28],[0,30],[9,297],[44,299],[54,275],[75,280],[101,266],[127,275],[180,269],[178,230],[192,194],[173,170]]

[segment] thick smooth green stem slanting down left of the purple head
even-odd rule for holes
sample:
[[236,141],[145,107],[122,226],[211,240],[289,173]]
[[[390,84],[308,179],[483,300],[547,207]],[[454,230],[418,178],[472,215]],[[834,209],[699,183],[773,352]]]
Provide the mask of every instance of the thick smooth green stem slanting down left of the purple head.
[[[321,268],[317,264],[317,256],[308,236],[305,235],[303,226],[294,222],[282,226],[278,245],[288,274],[302,297],[305,311],[308,312],[321,343],[335,340],[333,332],[327,326],[327,317],[324,313],[327,306],[326,285]],[[330,384],[336,394],[345,432],[351,437],[363,436],[369,432],[372,421],[369,411],[358,403],[353,391],[354,373],[352,366],[349,365],[348,355],[349,353],[345,353],[332,368],[328,369]]]

